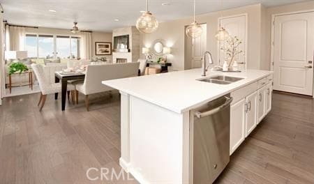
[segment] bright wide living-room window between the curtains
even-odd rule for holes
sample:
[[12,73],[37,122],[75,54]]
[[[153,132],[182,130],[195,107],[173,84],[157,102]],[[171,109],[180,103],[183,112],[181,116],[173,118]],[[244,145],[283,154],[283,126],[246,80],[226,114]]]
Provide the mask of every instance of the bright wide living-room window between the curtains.
[[25,50],[35,59],[77,59],[80,57],[80,37],[27,34]]

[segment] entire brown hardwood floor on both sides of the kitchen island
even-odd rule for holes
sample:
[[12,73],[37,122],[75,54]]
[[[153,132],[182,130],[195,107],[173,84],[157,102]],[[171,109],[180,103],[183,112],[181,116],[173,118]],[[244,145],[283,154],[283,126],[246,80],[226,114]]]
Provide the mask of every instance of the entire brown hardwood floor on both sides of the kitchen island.
[[[0,106],[0,183],[137,183],[89,181],[90,167],[120,171],[119,95],[84,96],[79,105],[39,94],[3,100]],[[271,113],[232,155],[216,183],[313,183],[314,102],[274,93]],[[124,173],[126,176],[126,174]],[[100,172],[93,171],[92,177]]]

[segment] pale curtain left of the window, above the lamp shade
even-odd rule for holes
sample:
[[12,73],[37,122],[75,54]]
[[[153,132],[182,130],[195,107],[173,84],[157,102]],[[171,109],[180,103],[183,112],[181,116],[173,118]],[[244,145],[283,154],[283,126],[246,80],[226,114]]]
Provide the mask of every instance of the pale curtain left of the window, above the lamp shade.
[[13,51],[24,50],[25,28],[19,26],[8,26],[7,49]]

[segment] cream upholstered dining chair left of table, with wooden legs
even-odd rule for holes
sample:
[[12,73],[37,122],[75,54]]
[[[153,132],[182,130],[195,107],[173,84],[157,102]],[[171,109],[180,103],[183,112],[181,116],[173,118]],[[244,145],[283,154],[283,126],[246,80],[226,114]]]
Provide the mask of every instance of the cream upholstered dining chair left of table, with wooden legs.
[[[54,94],[54,93],[61,93],[61,83],[51,83],[49,79],[47,79],[42,65],[33,63],[31,64],[31,68],[33,69],[33,72],[35,73],[36,78],[38,80],[38,84],[39,84],[39,89],[40,89],[41,94],[40,94],[38,106],[40,105],[39,111],[41,111],[45,105],[47,95]],[[71,98],[74,101],[74,98],[75,98],[74,89],[75,88],[73,84],[68,84],[67,89],[68,91],[71,91],[71,95],[72,95]]]

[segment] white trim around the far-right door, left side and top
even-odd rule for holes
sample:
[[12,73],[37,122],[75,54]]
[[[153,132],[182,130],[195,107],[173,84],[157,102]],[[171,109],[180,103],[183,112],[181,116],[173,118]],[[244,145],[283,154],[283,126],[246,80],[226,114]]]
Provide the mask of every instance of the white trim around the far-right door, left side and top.
[[[275,13],[271,15],[271,60],[270,60],[270,70],[274,71],[274,35],[275,35],[275,18],[283,15],[293,15],[293,14],[300,14],[300,13],[311,13],[314,12],[314,9],[309,10],[300,10],[300,11],[293,11],[293,12],[286,12],[286,13]],[[314,57],[314,56],[313,56]],[[314,77],[314,73],[313,73]],[[314,84],[314,81],[313,81]],[[314,98],[314,85],[313,85],[313,98]]]

